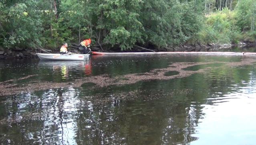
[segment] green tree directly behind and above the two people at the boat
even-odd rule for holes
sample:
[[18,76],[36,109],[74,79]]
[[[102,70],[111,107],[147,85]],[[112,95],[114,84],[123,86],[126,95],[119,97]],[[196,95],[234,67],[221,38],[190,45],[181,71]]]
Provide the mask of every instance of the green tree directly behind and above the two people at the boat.
[[77,43],[80,43],[82,38],[91,38],[92,9],[89,6],[89,1],[62,0],[60,7],[58,23],[64,28],[62,33],[69,33],[65,36],[65,39],[69,41],[78,40]]

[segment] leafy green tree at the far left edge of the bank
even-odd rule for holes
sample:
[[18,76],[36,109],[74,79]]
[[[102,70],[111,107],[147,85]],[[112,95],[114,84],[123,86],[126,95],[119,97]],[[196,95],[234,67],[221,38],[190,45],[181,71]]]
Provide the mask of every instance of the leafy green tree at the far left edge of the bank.
[[[10,2],[6,2],[10,4]],[[1,3],[1,44],[6,48],[35,48],[41,45],[42,21],[35,0],[24,0],[8,7]]]

